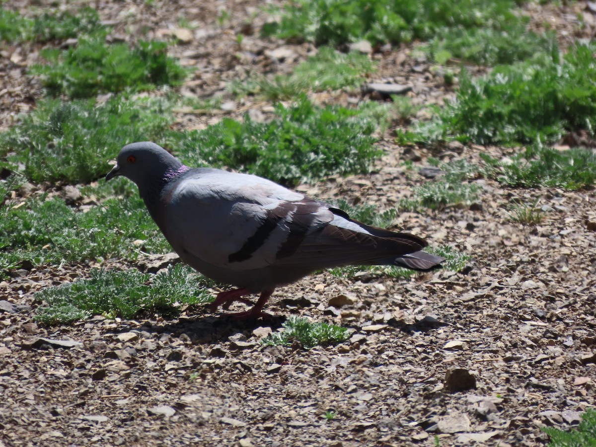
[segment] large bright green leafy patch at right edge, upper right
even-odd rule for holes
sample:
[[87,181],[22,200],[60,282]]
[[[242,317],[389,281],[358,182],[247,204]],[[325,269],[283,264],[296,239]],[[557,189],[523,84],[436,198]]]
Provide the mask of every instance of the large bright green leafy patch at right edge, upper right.
[[451,141],[519,145],[555,142],[567,132],[593,134],[596,45],[576,45],[529,61],[460,76],[457,98],[436,117],[400,134],[402,142]]

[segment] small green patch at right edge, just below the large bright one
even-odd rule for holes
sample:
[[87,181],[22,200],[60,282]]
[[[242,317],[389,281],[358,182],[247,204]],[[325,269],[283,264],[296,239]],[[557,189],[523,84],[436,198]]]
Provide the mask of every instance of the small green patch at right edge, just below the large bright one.
[[559,151],[535,144],[506,163],[487,154],[482,158],[486,175],[510,187],[579,190],[596,180],[596,156],[591,149]]

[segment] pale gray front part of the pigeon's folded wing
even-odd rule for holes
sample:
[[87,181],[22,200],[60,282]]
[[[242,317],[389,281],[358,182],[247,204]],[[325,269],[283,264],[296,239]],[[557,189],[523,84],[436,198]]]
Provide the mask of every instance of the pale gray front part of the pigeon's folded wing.
[[327,207],[252,175],[203,171],[166,194],[163,230],[176,252],[231,270],[271,266],[298,235],[333,220]]

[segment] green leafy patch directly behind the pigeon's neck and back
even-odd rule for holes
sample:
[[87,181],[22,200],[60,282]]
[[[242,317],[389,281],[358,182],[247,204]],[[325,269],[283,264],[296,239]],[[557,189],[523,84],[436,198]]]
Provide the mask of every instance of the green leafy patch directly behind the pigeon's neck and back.
[[170,134],[175,153],[188,166],[228,166],[286,185],[328,175],[369,172],[380,150],[377,125],[358,109],[318,107],[306,97],[279,104],[268,123],[224,119],[203,131]]

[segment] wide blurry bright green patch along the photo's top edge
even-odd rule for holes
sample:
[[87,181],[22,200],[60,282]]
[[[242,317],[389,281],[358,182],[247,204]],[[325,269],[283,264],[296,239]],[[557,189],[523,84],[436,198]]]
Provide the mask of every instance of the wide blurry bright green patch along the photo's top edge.
[[280,23],[263,29],[291,41],[315,45],[367,39],[373,44],[426,40],[445,27],[464,29],[519,23],[510,0],[298,0],[282,11]]

